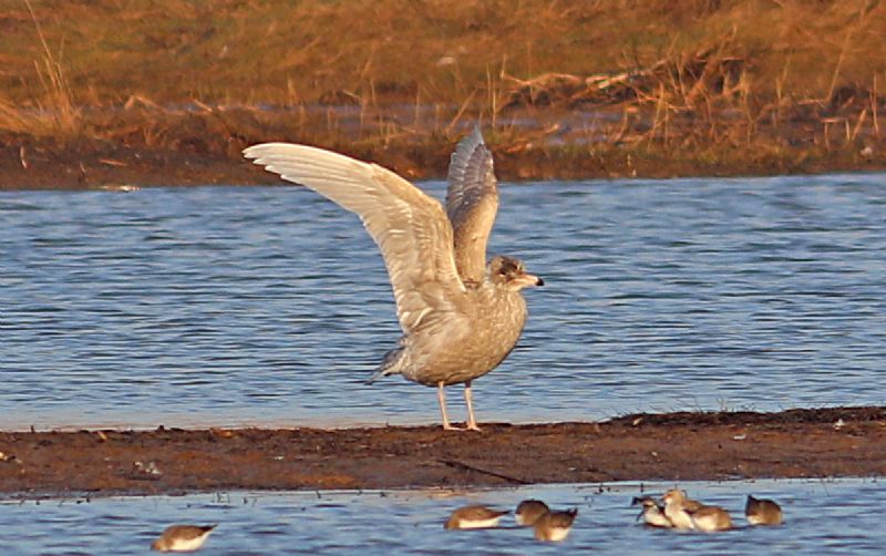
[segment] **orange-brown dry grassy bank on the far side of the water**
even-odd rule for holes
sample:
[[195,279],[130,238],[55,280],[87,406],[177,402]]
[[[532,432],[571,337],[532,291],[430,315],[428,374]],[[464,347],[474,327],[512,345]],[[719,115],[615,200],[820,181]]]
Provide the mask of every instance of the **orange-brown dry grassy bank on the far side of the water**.
[[877,0],[0,0],[0,34],[22,167],[287,140],[440,175],[477,120],[512,178],[886,165]]

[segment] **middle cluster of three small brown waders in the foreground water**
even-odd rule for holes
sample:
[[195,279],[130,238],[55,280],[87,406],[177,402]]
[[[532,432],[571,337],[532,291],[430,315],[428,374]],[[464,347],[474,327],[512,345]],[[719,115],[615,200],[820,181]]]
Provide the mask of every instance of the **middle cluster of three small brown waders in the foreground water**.
[[[497,527],[502,517],[509,513],[509,509],[493,509],[481,504],[472,504],[453,512],[445,527],[447,529],[493,528]],[[536,539],[558,543],[569,535],[577,515],[578,509],[576,508],[552,512],[548,505],[540,500],[524,500],[514,512],[514,521],[521,527],[533,527]]]

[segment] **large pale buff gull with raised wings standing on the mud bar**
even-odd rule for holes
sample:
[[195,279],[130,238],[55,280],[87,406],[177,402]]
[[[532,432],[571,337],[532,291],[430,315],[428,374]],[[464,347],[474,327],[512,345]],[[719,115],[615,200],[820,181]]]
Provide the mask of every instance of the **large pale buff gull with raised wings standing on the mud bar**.
[[498,188],[480,130],[452,155],[445,209],[387,168],[322,148],[265,143],[244,154],[356,213],[381,249],[403,336],[369,382],[402,374],[436,387],[445,430],[456,428],[443,388],[463,383],[466,429],[478,431],[471,382],[514,349],[526,321],[521,290],[544,284],[517,259],[486,262]]

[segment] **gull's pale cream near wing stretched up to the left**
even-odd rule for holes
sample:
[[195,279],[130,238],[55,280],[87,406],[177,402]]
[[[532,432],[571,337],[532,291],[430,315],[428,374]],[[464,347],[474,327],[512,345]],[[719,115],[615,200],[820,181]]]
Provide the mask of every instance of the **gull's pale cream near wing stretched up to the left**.
[[464,285],[440,202],[387,168],[322,148],[265,143],[244,155],[360,217],[381,249],[405,333],[454,316]]

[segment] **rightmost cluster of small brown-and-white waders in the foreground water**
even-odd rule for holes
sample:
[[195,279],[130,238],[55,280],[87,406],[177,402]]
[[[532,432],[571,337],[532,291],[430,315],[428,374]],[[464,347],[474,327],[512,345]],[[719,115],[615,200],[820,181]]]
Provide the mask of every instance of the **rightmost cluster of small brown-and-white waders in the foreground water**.
[[[707,532],[734,528],[724,508],[692,500],[679,488],[666,492],[660,501],[652,496],[635,497],[633,504],[643,507],[637,518],[642,517],[650,527]],[[781,525],[784,521],[776,502],[751,495],[744,504],[744,516],[750,525]]]

